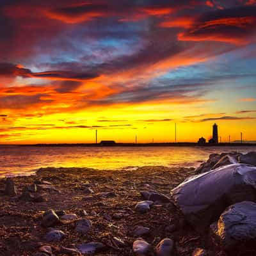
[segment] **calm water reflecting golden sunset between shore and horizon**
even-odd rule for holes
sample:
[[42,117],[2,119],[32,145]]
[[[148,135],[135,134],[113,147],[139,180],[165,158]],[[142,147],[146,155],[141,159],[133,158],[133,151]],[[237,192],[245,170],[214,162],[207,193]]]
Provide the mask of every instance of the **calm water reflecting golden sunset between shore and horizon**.
[[213,152],[256,147],[0,147],[0,177],[29,175],[40,167],[127,169],[137,166],[198,166]]

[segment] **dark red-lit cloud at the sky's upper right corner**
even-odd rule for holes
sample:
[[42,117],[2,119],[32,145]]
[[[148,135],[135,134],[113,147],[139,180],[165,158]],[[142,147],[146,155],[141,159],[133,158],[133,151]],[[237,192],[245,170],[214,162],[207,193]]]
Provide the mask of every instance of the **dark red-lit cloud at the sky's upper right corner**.
[[204,13],[191,28],[179,33],[182,41],[218,41],[243,45],[255,32],[256,6],[238,6]]

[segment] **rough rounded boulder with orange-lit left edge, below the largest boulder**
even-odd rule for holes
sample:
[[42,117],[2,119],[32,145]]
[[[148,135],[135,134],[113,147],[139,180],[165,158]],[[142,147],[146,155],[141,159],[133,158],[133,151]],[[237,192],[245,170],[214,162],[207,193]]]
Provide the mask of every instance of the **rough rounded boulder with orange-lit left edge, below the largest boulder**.
[[240,244],[255,243],[256,204],[244,201],[230,205],[221,214],[215,235],[225,250]]

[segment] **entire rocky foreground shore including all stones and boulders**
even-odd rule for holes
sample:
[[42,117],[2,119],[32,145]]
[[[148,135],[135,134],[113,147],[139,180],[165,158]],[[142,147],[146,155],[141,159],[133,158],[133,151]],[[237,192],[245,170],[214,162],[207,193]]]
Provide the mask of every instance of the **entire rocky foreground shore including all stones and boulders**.
[[228,153],[197,170],[1,179],[0,255],[256,255],[255,165],[255,153]]

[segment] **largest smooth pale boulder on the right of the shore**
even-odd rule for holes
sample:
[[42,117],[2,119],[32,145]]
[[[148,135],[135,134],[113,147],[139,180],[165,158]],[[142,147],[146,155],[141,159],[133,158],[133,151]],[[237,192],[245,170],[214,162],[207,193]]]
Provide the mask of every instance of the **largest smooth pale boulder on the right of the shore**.
[[255,200],[256,167],[231,164],[202,173],[172,190],[175,204],[197,230],[218,220],[228,205]]

